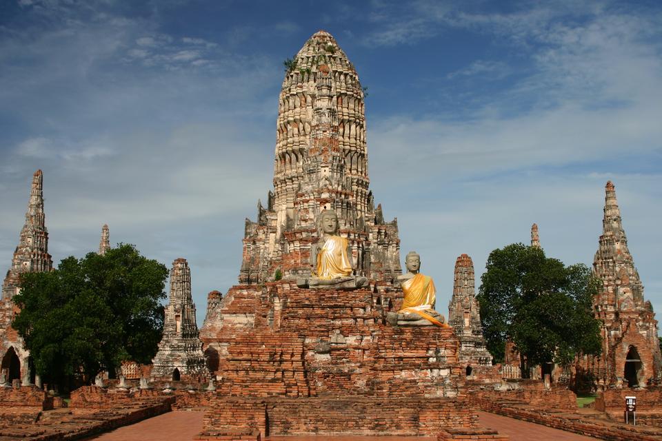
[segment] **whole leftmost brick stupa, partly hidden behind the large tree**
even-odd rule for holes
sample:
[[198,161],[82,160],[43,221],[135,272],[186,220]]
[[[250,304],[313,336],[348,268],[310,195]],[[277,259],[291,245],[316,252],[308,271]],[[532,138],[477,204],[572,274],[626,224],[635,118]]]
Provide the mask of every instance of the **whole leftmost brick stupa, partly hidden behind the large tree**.
[[[1,373],[5,380],[21,378],[23,384],[34,380],[34,369],[30,369],[30,353],[23,348],[23,339],[11,327],[14,314],[19,309],[12,297],[19,293],[21,274],[26,272],[50,271],[53,261],[48,254],[48,229],[43,212],[43,174],[34,172],[30,201],[26,212],[26,223],[21,229],[19,245],[14,250],[12,266],[2,284],[0,300],[0,360]],[[2,375],[0,374],[0,377]]]

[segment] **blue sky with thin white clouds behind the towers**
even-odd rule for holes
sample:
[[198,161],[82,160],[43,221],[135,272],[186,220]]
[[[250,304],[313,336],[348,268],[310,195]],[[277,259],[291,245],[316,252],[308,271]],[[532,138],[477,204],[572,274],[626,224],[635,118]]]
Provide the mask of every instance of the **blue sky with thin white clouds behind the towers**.
[[657,1],[3,1],[0,267],[41,168],[56,263],[108,223],[189,261],[201,323],[272,189],[282,62],[319,29],[368,87],[370,185],[439,311],[457,256],[479,279],[534,222],[548,256],[590,265],[608,179],[662,311]]

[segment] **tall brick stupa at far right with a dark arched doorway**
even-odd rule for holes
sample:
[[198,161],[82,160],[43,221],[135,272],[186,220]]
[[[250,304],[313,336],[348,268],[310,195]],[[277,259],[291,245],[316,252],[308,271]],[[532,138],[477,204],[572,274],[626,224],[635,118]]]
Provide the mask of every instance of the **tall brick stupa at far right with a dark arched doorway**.
[[645,387],[659,382],[662,373],[657,320],[650,301],[643,299],[611,181],[605,192],[602,236],[593,260],[593,272],[603,282],[593,302],[596,318],[603,322],[602,354],[583,358],[581,367],[593,373],[601,389]]

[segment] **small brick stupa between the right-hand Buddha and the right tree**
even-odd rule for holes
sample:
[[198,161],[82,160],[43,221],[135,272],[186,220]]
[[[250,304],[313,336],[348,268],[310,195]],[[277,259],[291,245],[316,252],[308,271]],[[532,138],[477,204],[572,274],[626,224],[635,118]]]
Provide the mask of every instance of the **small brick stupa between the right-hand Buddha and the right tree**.
[[476,300],[474,263],[467,254],[455,262],[453,296],[448,303],[448,324],[460,340],[459,362],[467,376],[476,367],[491,367],[492,355],[485,346],[481,311]]

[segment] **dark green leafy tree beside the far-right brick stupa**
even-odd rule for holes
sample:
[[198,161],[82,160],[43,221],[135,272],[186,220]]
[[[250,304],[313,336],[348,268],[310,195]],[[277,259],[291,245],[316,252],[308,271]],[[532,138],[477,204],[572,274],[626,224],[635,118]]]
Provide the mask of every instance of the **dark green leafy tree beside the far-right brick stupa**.
[[599,354],[601,322],[592,298],[599,280],[583,264],[565,267],[538,247],[521,243],[490,253],[477,296],[488,349],[503,361],[506,340],[528,367],[568,365],[576,354]]

